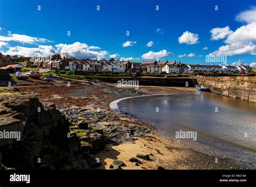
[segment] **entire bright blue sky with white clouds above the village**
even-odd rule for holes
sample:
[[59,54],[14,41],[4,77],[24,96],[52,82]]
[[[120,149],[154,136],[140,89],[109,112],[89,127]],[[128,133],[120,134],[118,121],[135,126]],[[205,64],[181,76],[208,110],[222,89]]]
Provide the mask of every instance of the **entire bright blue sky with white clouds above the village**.
[[256,3],[1,0],[0,52],[255,67]]

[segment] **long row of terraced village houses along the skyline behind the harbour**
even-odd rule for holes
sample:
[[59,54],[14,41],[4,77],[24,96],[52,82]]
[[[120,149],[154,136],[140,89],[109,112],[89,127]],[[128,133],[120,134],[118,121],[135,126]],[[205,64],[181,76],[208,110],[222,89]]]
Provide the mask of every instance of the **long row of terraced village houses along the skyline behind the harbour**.
[[35,61],[37,65],[46,69],[70,69],[84,71],[118,71],[118,72],[148,72],[148,73],[179,73],[189,74],[198,72],[220,72],[220,73],[252,73],[248,65],[230,66],[230,65],[203,65],[203,64],[185,64],[180,61],[109,61],[109,60],[84,60],[84,59],[57,59],[53,61]]

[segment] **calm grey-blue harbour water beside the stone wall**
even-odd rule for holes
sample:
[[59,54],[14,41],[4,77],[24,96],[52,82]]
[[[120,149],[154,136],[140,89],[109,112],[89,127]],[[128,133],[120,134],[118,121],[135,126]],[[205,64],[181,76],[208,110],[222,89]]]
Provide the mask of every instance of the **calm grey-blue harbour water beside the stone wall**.
[[256,103],[211,94],[170,95],[124,99],[118,107],[169,138],[175,139],[180,130],[196,131],[196,141],[177,140],[256,168]]

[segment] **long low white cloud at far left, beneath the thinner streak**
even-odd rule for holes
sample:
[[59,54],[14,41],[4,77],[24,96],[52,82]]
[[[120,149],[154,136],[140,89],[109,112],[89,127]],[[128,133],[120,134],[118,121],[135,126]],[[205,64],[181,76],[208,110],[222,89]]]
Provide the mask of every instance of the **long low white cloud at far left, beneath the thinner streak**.
[[3,54],[22,55],[22,56],[48,56],[55,54],[55,49],[52,46],[39,45],[38,47],[9,47],[8,51]]

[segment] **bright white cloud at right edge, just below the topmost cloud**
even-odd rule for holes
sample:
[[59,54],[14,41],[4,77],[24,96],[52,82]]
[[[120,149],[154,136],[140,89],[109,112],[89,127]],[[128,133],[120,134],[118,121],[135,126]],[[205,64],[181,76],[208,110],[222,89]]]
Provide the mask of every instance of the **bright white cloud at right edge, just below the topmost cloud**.
[[228,35],[225,43],[233,44],[236,42],[251,42],[255,40],[256,40],[256,23],[251,23],[251,24],[237,28],[237,30],[235,30],[232,34]]

